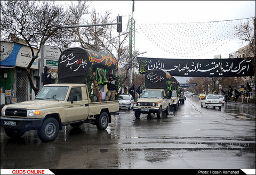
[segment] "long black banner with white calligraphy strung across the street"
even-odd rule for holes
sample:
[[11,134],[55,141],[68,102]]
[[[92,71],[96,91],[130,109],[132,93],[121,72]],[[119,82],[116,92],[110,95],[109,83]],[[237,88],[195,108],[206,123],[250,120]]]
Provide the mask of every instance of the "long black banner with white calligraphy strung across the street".
[[139,73],[160,69],[178,77],[253,76],[253,57],[237,59],[157,59],[137,57]]

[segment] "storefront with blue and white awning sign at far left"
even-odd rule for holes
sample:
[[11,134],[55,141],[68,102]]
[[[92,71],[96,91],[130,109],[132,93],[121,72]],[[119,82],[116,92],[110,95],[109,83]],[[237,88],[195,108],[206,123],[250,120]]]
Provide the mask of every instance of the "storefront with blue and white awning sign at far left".
[[[37,51],[38,49],[34,48],[34,52]],[[10,103],[11,99],[15,99],[15,103],[34,98],[34,90],[31,89],[27,78],[27,66],[31,58],[32,53],[28,46],[1,41],[1,104]],[[38,60],[34,61],[30,69],[36,87],[39,87]],[[10,98],[6,97],[6,90],[11,91]]]

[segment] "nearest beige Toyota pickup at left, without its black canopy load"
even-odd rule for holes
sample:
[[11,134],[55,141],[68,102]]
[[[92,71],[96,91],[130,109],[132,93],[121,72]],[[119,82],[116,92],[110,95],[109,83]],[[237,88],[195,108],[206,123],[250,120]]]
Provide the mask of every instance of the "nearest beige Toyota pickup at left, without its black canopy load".
[[5,105],[1,127],[11,138],[37,130],[39,139],[52,141],[68,124],[75,128],[86,122],[105,130],[111,113],[118,110],[118,101],[91,103],[85,84],[50,84],[42,87],[34,101]]

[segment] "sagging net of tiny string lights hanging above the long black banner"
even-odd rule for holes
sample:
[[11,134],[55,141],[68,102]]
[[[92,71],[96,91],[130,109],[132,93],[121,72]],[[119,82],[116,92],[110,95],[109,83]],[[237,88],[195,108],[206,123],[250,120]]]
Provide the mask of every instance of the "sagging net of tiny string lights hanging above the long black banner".
[[[137,23],[137,31],[142,32],[152,43],[163,51],[175,56],[199,57],[214,51],[235,39],[235,27],[254,18],[223,21],[188,23]],[[234,48],[237,49],[237,48]]]

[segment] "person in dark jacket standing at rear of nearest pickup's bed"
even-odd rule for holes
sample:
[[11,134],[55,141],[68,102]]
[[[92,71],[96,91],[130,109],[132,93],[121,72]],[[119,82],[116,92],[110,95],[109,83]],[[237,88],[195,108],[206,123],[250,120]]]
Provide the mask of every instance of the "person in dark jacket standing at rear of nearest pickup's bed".
[[108,92],[105,98],[105,101],[108,101],[109,98],[111,101],[114,101],[118,92],[116,80],[113,77],[113,74],[109,75],[108,81],[103,85],[108,85]]

